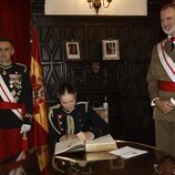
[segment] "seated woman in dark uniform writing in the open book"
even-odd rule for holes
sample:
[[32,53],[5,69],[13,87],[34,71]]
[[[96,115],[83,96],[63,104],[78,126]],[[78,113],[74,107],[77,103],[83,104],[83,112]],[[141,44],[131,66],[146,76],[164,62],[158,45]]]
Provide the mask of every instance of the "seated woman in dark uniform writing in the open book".
[[109,134],[107,123],[87,102],[76,103],[76,92],[71,84],[63,83],[58,97],[60,104],[49,109],[50,143],[74,137],[93,140]]

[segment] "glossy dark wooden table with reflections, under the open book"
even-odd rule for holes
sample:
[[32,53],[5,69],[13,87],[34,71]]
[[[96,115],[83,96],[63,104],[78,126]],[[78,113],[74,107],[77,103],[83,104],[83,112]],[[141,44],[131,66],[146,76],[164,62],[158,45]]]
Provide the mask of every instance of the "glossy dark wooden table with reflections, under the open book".
[[[9,175],[10,172],[16,175],[22,174],[21,172],[24,175],[152,175],[154,164],[159,157],[166,156],[166,153],[152,146],[125,141],[116,141],[116,143],[117,147],[127,145],[145,150],[148,153],[128,159],[116,157],[76,163],[53,158],[54,146],[45,145],[1,161],[0,175]],[[76,156],[83,157],[84,155],[83,152],[76,152]]]

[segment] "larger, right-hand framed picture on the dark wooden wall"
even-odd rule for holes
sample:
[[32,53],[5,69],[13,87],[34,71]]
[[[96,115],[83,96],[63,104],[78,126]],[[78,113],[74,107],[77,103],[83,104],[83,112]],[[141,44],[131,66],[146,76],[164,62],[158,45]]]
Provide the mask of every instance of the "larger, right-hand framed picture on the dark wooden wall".
[[119,40],[102,40],[103,60],[120,60]]

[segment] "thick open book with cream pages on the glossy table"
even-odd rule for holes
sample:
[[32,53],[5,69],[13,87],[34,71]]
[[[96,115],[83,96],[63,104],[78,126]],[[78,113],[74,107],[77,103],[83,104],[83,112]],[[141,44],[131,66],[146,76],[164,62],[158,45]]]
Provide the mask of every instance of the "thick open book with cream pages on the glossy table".
[[78,138],[72,138],[58,142],[54,146],[54,155],[73,151],[103,152],[116,148],[116,142],[110,134],[107,134],[92,141],[80,141]]

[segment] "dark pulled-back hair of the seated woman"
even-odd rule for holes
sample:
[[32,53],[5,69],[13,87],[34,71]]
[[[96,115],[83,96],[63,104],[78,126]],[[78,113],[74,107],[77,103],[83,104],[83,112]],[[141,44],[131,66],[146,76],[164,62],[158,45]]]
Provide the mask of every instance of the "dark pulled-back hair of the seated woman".
[[69,94],[76,94],[75,92],[75,89],[73,87],[72,84],[65,82],[65,83],[62,83],[59,87],[59,91],[58,91],[58,96],[62,96],[64,95],[65,93],[69,93]]

